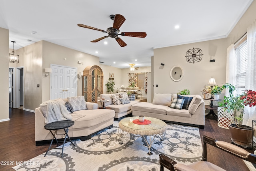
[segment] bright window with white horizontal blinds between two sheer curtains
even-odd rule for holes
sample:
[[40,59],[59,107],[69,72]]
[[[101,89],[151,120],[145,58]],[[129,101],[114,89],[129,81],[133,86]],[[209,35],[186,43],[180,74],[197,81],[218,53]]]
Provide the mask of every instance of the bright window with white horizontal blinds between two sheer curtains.
[[245,90],[245,74],[247,68],[247,36],[243,36],[234,45],[236,54],[236,90],[241,94]]

